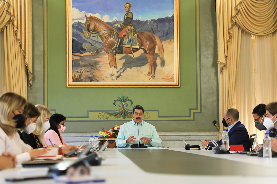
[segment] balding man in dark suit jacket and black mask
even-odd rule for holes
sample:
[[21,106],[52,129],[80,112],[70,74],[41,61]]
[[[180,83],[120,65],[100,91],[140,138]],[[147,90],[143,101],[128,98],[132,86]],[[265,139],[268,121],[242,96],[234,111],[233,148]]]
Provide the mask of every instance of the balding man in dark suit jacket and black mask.
[[[239,121],[239,111],[237,109],[227,109],[224,112],[222,123],[223,126],[227,126],[229,145],[242,144],[244,150],[249,150],[249,135],[245,126]],[[207,144],[215,147],[207,139],[201,140],[201,144],[203,147],[206,147]],[[221,145],[221,140],[217,141],[217,144]]]

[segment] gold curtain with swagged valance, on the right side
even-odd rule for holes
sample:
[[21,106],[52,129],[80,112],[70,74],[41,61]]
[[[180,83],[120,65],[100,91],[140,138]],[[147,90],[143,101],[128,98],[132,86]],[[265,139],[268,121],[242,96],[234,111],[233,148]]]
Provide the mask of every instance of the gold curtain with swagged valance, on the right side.
[[[239,64],[241,31],[257,36],[277,31],[277,0],[217,0],[220,119],[232,108]],[[273,35],[276,37],[276,34]],[[274,38],[275,40],[277,38]],[[274,42],[277,58],[277,40]],[[275,59],[276,62],[276,59]],[[223,129],[223,126],[220,127]]]

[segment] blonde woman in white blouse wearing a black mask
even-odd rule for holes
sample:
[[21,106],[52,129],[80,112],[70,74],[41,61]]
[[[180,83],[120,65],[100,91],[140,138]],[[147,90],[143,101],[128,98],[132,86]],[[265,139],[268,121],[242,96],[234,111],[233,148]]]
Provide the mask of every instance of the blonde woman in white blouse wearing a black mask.
[[0,155],[10,152],[16,155],[18,163],[47,153],[47,149],[36,149],[25,144],[17,133],[25,123],[23,116],[26,99],[15,93],[5,93],[0,97]]

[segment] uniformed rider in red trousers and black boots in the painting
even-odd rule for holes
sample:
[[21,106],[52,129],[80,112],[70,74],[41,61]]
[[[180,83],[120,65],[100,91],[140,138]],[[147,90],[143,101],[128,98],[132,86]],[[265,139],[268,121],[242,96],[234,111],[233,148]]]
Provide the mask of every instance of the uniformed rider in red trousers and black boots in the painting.
[[110,51],[112,53],[118,54],[120,52],[119,48],[121,47],[121,44],[123,43],[123,38],[124,38],[124,36],[126,36],[128,30],[130,30],[130,25],[132,27],[134,15],[130,10],[131,7],[132,7],[131,4],[129,2],[126,2],[126,4],[125,4],[126,14],[124,15],[123,23],[120,23],[119,25],[117,25],[117,28],[121,31],[118,35],[118,41],[117,41],[116,46],[114,48],[110,49]]

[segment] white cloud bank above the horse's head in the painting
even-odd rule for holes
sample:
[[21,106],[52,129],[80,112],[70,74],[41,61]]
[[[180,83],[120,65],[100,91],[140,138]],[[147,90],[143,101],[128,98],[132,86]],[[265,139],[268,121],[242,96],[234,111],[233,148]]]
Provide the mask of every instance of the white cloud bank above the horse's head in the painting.
[[86,21],[86,16],[93,16],[93,17],[97,17],[100,20],[104,21],[104,22],[111,22],[114,20],[118,20],[117,17],[114,17],[112,20],[110,20],[110,16],[109,15],[104,15],[103,17],[99,14],[99,13],[88,13],[86,11],[80,11],[77,8],[72,8],[72,23],[74,22],[82,22],[85,23]]

